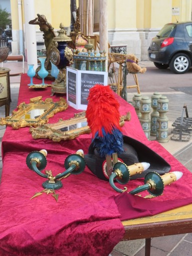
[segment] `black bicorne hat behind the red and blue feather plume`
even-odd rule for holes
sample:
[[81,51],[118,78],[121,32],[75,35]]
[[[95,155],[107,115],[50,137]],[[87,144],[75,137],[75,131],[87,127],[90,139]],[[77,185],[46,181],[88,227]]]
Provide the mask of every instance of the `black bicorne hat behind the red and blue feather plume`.
[[[120,158],[127,166],[141,162],[150,164],[150,167],[143,173],[131,176],[131,180],[145,177],[145,175],[151,171],[155,171],[159,175],[163,175],[170,171],[170,165],[143,143],[128,136],[123,136],[123,142],[124,153],[118,154],[118,158]],[[92,173],[102,180],[107,180],[106,175],[103,173],[103,163],[105,158],[99,156],[97,149],[94,147],[94,143],[90,145],[88,154],[85,155],[84,158],[86,165]]]

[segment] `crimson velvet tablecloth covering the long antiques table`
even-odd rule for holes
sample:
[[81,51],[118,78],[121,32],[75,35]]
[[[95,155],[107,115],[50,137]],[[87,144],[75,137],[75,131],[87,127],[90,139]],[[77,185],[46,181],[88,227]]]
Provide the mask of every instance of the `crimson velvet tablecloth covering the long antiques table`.
[[[26,74],[22,75],[18,104],[29,103],[29,99],[36,96],[51,97],[51,87],[30,89],[27,86],[29,80]],[[34,79],[34,82],[40,83],[40,80]],[[52,98],[58,101],[60,97],[60,94],[55,94]],[[154,215],[192,203],[192,174],[158,142],[146,139],[134,108],[116,97],[120,102],[120,114],[131,112],[131,120],[122,127],[123,134],[154,150],[171,165],[171,171],[183,172],[182,178],[166,186],[163,195],[144,199],[128,193],[118,194],[108,181],[99,180],[86,167],[80,175],[70,175],[62,180],[63,188],[56,191],[58,202],[52,194],[46,193],[30,200],[36,192],[43,190],[45,179],[29,170],[27,155],[31,151],[46,149],[46,170],[52,170],[56,175],[65,170],[64,160],[68,155],[78,149],[88,153],[91,134],[56,143],[49,139],[34,140],[29,127],[14,130],[8,126],[2,141],[1,255],[105,256],[123,237],[121,220]],[[80,111],[69,106],[49,122],[71,118]],[[128,191],[141,184],[143,179],[129,181]],[[118,187],[124,186],[118,184]]]

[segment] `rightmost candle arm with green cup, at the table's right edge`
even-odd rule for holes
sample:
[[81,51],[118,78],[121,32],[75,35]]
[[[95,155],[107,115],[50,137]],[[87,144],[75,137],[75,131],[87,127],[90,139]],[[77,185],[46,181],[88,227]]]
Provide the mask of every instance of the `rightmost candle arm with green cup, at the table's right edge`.
[[169,172],[162,176],[156,172],[149,172],[144,179],[145,185],[139,186],[138,188],[131,190],[129,193],[135,195],[147,190],[153,196],[160,196],[164,190],[164,186],[171,184],[181,177],[182,173],[178,171]]

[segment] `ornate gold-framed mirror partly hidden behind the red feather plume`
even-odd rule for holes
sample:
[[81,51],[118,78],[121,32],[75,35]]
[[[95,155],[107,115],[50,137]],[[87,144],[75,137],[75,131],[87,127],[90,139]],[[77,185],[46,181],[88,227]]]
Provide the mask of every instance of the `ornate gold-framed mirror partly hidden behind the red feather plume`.
[[[122,115],[120,118],[120,126],[131,118],[130,112]],[[90,127],[87,125],[85,111],[75,114],[73,118],[68,120],[60,119],[56,123],[42,124],[38,127],[30,127],[30,132],[34,139],[50,139],[54,142],[73,140],[81,134],[89,134]]]

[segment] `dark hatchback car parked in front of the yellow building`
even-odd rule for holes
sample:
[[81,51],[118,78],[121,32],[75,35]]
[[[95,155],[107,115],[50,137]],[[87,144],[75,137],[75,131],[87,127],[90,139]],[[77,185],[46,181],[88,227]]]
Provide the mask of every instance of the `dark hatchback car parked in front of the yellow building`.
[[166,24],[152,39],[148,57],[159,69],[187,72],[192,63],[192,22]]

